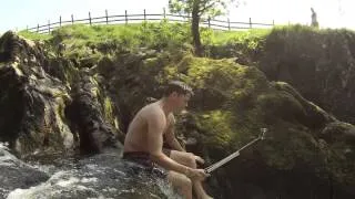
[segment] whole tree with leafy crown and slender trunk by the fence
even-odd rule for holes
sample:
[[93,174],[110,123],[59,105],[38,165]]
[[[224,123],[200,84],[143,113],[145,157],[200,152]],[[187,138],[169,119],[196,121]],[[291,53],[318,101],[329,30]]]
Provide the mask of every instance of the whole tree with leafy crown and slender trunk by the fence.
[[195,54],[201,56],[203,49],[200,39],[200,20],[203,17],[214,18],[227,9],[227,4],[235,0],[169,0],[169,10],[172,13],[185,13],[191,17],[191,32]]

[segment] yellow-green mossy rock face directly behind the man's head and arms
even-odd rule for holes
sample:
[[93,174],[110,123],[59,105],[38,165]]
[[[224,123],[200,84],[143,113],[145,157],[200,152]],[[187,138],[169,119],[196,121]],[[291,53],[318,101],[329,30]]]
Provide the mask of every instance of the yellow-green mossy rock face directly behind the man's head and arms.
[[272,90],[256,67],[230,59],[187,55],[165,70],[178,73],[197,93],[193,108],[199,111],[197,123],[206,132],[207,146],[229,154],[258,135],[264,111],[257,96]]

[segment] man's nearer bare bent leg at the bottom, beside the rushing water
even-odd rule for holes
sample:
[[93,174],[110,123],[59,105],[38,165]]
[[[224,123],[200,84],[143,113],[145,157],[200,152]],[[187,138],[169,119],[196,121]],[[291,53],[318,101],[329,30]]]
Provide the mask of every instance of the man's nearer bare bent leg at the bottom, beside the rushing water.
[[192,184],[190,178],[186,176],[175,172],[169,171],[168,180],[173,185],[178,192],[182,195],[186,199],[192,199]]

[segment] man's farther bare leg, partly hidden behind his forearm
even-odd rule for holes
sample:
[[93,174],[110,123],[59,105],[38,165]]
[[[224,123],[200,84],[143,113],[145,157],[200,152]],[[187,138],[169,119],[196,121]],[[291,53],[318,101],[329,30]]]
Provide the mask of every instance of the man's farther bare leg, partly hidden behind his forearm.
[[[195,156],[191,153],[171,150],[170,158],[191,168],[197,167]],[[212,198],[204,191],[201,181],[192,181],[192,185],[199,199]]]

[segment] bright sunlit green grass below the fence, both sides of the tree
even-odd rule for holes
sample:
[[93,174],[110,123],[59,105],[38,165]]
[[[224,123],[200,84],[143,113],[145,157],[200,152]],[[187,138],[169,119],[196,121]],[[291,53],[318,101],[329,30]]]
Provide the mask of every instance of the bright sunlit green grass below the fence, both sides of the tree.
[[[248,31],[214,31],[201,29],[201,40],[204,45],[224,45],[227,43],[246,42],[250,48],[255,48],[257,41],[265,36],[270,29],[253,29]],[[161,22],[143,22],[136,24],[115,25],[65,25],[54,30],[51,34],[39,34],[28,31],[19,32],[30,40],[51,42],[53,45],[64,43],[74,48],[79,54],[87,53],[85,49],[98,48],[106,53],[108,49],[191,49],[191,30],[189,24]],[[189,49],[190,48],[190,49]]]

